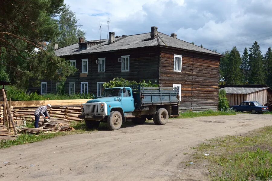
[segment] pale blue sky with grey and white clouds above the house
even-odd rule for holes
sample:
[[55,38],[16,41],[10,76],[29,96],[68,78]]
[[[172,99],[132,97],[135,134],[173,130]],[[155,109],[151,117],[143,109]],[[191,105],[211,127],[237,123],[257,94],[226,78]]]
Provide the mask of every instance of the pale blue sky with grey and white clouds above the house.
[[254,41],[262,52],[272,46],[272,0],[65,0],[86,31],[87,40],[147,33],[151,26],[218,52]]

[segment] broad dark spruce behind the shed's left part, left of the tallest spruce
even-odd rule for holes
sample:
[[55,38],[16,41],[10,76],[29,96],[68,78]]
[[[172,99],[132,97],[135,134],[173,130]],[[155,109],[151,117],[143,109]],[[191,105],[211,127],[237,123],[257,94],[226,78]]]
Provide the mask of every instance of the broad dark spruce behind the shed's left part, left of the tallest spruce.
[[228,56],[228,66],[226,68],[226,84],[241,84],[241,57],[236,46],[232,48]]

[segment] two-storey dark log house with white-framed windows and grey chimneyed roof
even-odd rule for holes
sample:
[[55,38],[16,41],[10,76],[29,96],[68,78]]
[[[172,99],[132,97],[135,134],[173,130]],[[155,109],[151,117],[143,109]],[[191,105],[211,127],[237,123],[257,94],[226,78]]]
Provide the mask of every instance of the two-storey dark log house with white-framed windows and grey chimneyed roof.
[[[78,71],[67,78],[66,93],[93,92],[101,96],[102,84],[115,77],[150,80],[160,87],[178,87],[181,110],[217,110],[219,61],[222,54],[179,40],[151,27],[151,33],[84,41],[56,49]],[[29,90],[55,93],[58,83],[42,80]]]

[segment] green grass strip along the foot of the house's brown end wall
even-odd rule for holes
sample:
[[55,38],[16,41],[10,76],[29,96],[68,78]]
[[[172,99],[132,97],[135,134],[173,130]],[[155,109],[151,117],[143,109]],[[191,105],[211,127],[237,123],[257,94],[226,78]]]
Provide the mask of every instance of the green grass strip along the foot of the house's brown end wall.
[[180,113],[180,116],[176,118],[193,118],[193,117],[199,117],[199,116],[222,116],[222,115],[236,115],[235,112],[221,112],[221,111],[199,111],[199,112],[193,112],[193,111],[186,111],[184,113]]

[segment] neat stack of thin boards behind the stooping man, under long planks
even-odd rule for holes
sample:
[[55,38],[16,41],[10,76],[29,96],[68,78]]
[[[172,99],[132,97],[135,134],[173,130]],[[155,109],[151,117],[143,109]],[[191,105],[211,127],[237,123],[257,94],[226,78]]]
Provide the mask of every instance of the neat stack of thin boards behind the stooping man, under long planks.
[[[14,121],[20,122],[21,120],[26,119],[31,122],[35,119],[34,112],[37,108],[37,106],[14,106],[11,108],[11,114]],[[80,105],[52,106],[52,108],[48,110],[48,113],[50,114],[50,117],[67,119],[68,122],[79,122],[82,120],[77,118],[78,115],[81,115]],[[0,122],[2,122],[2,119],[3,107],[0,106]],[[40,117],[40,119],[42,119],[42,117]]]

